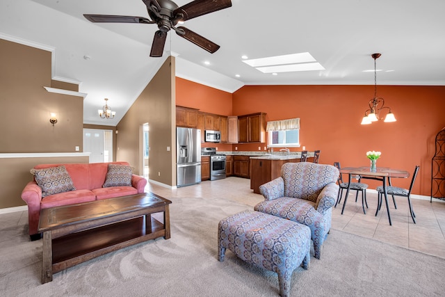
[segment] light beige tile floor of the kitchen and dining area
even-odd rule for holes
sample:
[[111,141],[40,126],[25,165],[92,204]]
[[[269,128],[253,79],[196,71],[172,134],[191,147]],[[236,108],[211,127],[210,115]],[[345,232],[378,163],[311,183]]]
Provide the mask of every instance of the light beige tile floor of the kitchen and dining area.
[[[152,191],[165,198],[211,197],[234,200],[252,207],[263,201],[263,196],[254,194],[250,189],[250,179],[228,177],[216,181],[201,182],[193,186],[177,189],[163,188],[148,184],[147,191]],[[378,216],[375,216],[377,194],[368,191],[369,209],[366,214],[362,210],[362,201],[355,202],[355,191],[349,194],[345,211],[341,215],[343,199],[332,209],[332,228],[357,234],[378,241],[391,243],[430,255],[445,257],[445,202],[420,200],[412,198],[416,213],[416,224],[412,222],[406,198],[396,197],[397,209],[389,197],[389,211],[392,225],[389,225],[385,202]]]

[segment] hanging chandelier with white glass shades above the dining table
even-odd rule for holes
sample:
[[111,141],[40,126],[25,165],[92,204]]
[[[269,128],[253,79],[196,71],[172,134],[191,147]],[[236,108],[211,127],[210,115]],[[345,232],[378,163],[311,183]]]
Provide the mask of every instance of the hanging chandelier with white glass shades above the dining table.
[[385,117],[384,122],[396,122],[396,117],[394,117],[394,113],[391,112],[391,109],[388,106],[385,106],[385,99],[382,97],[377,97],[377,68],[375,67],[375,60],[382,56],[381,54],[372,54],[371,57],[374,59],[374,97],[369,100],[369,109],[366,109],[364,112],[364,117],[362,119],[362,125],[369,125],[372,122],[377,122],[378,120],[382,120],[382,116],[380,112],[384,109],[388,110],[388,113]]

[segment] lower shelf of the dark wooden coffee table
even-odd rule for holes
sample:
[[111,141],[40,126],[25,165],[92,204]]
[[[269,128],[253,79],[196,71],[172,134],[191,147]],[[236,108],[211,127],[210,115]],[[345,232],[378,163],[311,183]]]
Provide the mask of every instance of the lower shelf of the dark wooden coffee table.
[[163,223],[141,216],[53,239],[52,271],[86,262],[108,252],[165,236]]

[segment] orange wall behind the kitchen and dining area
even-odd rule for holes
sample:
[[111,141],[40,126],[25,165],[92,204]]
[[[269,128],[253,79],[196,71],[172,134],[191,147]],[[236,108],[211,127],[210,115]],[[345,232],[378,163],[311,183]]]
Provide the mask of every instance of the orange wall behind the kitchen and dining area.
[[[360,125],[373,93],[373,86],[243,86],[230,94],[177,78],[177,105],[221,115],[261,111],[267,113],[266,121],[300,118],[301,146],[321,150],[321,163],[369,166],[366,152],[381,151],[378,166],[412,173],[420,165],[413,193],[429,196],[435,136],[445,127],[445,86],[378,86],[378,96],[385,98],[397,122]],[[218,150],[264,151],[264,146],[219,144]],[[393,179],[406,188],[410,181]],[[379,185],[366,182],[370,188]]]

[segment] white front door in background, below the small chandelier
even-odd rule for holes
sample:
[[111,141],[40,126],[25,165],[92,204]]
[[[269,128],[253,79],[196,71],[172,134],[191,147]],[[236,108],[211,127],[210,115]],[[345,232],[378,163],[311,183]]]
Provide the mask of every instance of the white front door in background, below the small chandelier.
[[90,163],[113,161],[113,130],[83,129],[83,152],[90,152]]

